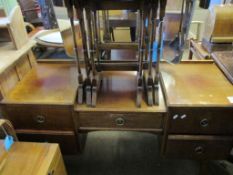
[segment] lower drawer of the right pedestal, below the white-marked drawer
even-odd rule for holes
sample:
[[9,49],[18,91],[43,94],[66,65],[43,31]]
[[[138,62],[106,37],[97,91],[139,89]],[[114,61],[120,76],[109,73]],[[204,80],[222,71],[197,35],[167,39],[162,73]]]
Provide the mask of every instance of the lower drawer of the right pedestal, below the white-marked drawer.
[[169,135],[165,156],[185,159],[226,159],[233,137]]

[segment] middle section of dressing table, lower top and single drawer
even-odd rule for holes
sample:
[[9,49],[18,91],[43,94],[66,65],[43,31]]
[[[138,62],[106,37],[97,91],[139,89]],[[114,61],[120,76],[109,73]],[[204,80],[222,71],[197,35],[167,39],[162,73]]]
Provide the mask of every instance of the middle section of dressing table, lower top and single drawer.
[[76,130],[130,130],[161,134],[166,113],[163,94],[159,91],[159,105],[149,107],[145,98],[136,107],[136,72],[104,72],[102,88],[95,108],[75,105]]

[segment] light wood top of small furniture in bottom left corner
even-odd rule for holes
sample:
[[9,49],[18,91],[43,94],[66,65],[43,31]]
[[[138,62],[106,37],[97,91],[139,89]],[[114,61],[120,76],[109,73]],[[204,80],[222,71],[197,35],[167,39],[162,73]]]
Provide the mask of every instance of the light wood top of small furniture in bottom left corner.
[[15,142],[8,152],[0,141],[0,174],[47,174],[58,144]]

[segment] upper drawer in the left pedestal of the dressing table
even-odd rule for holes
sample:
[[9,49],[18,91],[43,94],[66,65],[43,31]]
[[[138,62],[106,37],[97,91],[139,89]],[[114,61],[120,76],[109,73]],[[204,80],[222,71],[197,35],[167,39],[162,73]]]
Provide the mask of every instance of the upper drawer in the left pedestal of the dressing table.
[[73,130],[69,106],[6,105],[3,110],[15,129]]

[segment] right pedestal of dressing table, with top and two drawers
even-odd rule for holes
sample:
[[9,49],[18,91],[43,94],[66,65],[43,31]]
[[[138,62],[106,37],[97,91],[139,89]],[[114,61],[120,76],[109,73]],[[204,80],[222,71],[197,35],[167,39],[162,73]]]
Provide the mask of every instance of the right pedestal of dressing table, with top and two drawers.
[[226,159],[233,147],[233,86],[213,62],[162,64],[168,105],[163,155]]

